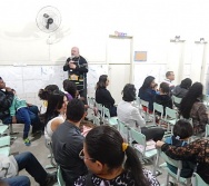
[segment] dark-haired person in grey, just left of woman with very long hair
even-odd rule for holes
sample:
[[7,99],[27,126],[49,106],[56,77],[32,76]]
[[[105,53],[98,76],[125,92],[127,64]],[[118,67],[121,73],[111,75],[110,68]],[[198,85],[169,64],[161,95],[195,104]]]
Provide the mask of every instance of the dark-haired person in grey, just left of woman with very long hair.
[[190,78],[181,80],[181,84],[176,86],[172,90],[172,95],[178,98],[183,98],[187,95],[189,88],[191,87],[191,84],[192,81]]

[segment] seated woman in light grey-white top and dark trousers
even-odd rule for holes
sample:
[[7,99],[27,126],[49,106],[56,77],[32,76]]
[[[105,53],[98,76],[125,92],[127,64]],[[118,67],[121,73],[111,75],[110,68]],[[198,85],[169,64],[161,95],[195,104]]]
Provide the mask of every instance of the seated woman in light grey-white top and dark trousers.
[[132,84],[127,84],[122,90],[122,101],[119,102],[117,108],[118,119],[141,131],[146,139],[153,139],[155,141],[161,140],[165,130],[159,127],[147,128],[146,121],[141,117],[138,108],[132,106],[132,101],[136,99],[136,88]]

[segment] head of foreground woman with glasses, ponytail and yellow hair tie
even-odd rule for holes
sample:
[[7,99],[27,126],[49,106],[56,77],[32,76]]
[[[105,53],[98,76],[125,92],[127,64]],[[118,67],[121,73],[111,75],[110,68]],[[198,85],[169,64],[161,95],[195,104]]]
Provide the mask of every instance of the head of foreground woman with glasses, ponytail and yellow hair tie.
[[142,173],[141,163],[132,147],[123,143],[120,133],[110,126],[99,126],[91,129],[84,139],[83,158],[87,167],[94,175],[111,175],[113,170],[130,170],[135,179],[135,185],[147,185],[147,179]]

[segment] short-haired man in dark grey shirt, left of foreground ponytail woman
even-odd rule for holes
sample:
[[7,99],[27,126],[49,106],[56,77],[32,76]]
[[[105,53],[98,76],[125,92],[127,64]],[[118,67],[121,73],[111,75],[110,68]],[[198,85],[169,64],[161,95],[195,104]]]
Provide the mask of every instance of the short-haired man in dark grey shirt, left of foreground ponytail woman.
[[67,120],[52,135],[54,159],[61,167],[67,186],[73,185],[79,176],[87,174],[87,167],[79,158],[84,140],[79,126],[84,115],[83,102],[72,99],[67,106]]

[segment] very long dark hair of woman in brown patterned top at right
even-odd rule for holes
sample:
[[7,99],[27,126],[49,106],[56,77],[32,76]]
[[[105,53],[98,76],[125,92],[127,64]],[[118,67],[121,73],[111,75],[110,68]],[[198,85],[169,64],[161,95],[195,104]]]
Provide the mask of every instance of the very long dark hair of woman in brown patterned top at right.
[[182,98],[179,110],[183,118],[189,119],[193,104],[202,98],[202,84],[195,82],[188,90],[187,95]]

